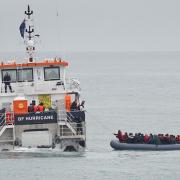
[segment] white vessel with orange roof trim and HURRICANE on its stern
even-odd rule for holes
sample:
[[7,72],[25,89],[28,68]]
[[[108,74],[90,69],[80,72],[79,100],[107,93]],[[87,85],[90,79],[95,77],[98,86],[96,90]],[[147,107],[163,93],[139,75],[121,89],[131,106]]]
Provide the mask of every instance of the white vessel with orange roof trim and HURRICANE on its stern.
[[28,5],[20,33],[28,59],[0,64],[0,150],[48,148],[83,151],[84,101],[77,79],[66,78],[68,62],[35,61],[33,11]]

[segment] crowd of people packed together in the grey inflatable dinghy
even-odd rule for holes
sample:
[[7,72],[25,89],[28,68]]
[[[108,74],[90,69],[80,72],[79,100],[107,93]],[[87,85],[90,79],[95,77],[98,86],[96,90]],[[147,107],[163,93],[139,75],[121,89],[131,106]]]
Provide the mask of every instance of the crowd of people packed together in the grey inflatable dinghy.
[[122,133],[121,130],[114,134],[121,143],[133,144],[180,144],[180,135],[169,134],[142,134],[142,133]]

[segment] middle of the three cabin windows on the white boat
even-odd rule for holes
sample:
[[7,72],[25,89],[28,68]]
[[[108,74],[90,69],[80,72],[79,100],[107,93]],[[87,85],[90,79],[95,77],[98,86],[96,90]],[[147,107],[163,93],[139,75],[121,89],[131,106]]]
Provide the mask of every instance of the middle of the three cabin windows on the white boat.
[[19,69],[18,70],[18,81],[33,81],[33,69],[27,68],[27,69]]

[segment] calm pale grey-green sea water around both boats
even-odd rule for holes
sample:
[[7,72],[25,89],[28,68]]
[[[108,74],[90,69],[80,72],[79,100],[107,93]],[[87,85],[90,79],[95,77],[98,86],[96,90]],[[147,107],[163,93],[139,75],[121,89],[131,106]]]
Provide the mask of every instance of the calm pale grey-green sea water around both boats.
[[114,151],[119,129],[180,134],[180,53],[67,53],[68,74],[86,100],[84,153],[0,154],[0,179],[169,180],[180,177],[180,151]]

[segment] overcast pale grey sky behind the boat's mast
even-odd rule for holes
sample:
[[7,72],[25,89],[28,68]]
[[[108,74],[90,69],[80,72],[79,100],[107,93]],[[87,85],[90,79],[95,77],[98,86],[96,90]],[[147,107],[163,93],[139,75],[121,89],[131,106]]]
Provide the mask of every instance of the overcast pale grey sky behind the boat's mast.
[[41,51],[180,50],[179,0],[0,0],[0,52],[24,51],[28,3]]

